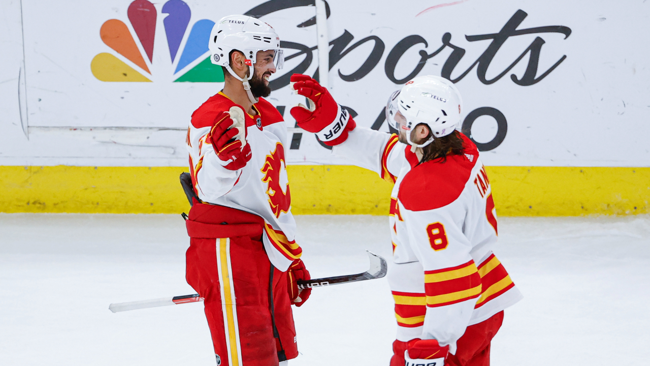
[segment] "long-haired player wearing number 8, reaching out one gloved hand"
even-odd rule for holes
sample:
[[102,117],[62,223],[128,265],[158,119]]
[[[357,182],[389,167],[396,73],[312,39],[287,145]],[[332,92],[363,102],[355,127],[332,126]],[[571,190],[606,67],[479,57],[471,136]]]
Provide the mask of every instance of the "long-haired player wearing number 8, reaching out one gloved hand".
[[355,128],[330,93],[307,76],[293,88],[298,126],[334,145],[333,154],[395,184],[390,225],[397,339],[391,366],[487,366],[503,310],[521,299],[492,253],[497,217],[476,145],[456,130],[461,97],[442,77],[415,77],[389,99],[400,132]]

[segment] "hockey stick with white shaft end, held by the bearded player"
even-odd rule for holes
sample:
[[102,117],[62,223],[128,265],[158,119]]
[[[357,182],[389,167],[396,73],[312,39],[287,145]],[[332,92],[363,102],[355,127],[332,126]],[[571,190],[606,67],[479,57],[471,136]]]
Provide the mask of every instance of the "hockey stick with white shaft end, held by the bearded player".
[[[357,281],[365,281],[367,279],[377,279],[382,278],[386,275],[388,266],[386,260],[382,257],[367,251],[368,258],[370,259],[370,268],[362,274],[354,275],[338,275],[334,277],[324,277],[324,278],[315,278],[308,281],[298,281],[298,289],[313,289],[314,287],[323,287],[338,285],[339,283],[350,283]],[[109,310],[113,313],[118,311],[129,311],[136,309],[146,309],[148,307],[159,307],[159,306],[168,306],[168,305],[177,305],[179,303],[188,303],[188,302],[200,302],[203,301],[203,298],[199,294],[185,295],[185,296],[174,296],[173,298],[160,298],[152,300],[142,300],[135,302],[121,302],[121,303],[111,303],[109,305]]]

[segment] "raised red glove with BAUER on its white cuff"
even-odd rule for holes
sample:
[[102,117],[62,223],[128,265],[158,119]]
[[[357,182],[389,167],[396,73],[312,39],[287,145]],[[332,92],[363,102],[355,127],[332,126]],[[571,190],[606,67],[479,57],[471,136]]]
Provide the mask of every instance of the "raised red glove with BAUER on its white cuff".
[[350,113],[334,101],[330,92],[318,81],[302,74],[291,76],[291,87],[309,100],[309,108],[298,104],[291,108],[291,115],[298,127],[313,132],[325,145],[335,146],[348,138],[348,131],[357,124]]

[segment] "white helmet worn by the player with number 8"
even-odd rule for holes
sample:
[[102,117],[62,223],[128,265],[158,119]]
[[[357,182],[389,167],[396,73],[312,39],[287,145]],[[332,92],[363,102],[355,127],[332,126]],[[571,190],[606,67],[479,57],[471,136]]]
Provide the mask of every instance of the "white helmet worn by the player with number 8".
[[[406,119],[408,130],[423,123],[429,126],[435,137],[443,137],[461,124],[463,100],[454,83],[444,77],[414,77],[404,85],[397,101],[398,111]],[[406,139],[415,147],[425,147],[434,141],[430,136],[424,143],[416,144],[411,141],[410,133],[406,134]]]

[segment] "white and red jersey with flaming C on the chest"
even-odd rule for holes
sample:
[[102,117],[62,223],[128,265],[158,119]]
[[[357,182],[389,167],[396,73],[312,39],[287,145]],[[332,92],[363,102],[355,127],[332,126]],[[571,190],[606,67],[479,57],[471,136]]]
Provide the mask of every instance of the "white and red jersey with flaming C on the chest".
[[214,118],[232,106],[237,104],[219,92],[192,113],[186,144],[194,191],[203,203],[220,204],[261,216],[265,220],[266,254],[278,270],[286,271],[302,254],[295,242],[296,221],[291,214],[285,163],[287,125],[272,104],[259,98],[253,105],[257,115],[246,113],[245,116],[246,141],[252,157],[242,169],[226,169],[214,152],[210,130]]

